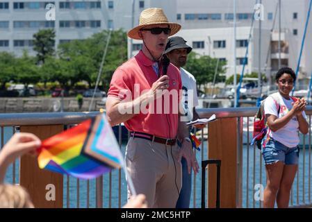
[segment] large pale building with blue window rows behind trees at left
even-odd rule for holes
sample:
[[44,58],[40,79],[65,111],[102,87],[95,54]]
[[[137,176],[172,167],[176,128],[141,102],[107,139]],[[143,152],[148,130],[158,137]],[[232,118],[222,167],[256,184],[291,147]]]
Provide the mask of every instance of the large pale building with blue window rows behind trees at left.
[[[18,56],[24,49],[31,54],[33,34],[42,28],[54,28],[56,47],[60,42],[90,37],[103,29],[129,30],[138,24],[145,8],[165,8],[170,19],[176,19],[176,1],[166,0],[3,0],[0,1],[0,51]],[[55,21],[46,19],[47,4],[55,6]],[[51,8],[49,8],[51,9]],[[53,10],[53,9],[52,9]],[[50,17],[50,16],[48,16]],[[132,19],[133,18],[133,19]]]

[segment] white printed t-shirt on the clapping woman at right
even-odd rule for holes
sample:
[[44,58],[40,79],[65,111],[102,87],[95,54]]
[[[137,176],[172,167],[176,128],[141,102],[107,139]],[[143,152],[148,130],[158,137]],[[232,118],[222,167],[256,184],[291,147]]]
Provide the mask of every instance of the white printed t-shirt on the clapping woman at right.
[[[268,96],[264,101],[264,112],[265,114],[272,114],[275,117],[281,118],[284,117],[289,110],[293,108],[293,99],[290,100],[284,99],[283,96],[279,94],[280,109],[279,114],[277,115],[278,107],[274,102],[274,99],[271,96]],[[305,112],[302,112],[304,118],[306,119]],[[277,140],[281,144],[284,144],[287,147],[295,147],[299,144],[299,122],[297,117],[293,117],[290,121],[279,130],[273,132],[270,130],[269,135],[273,139]]]

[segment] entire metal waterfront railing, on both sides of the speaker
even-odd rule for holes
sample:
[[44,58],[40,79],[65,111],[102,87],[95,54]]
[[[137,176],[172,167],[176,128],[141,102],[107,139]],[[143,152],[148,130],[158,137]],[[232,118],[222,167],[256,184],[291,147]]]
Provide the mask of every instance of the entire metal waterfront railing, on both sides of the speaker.
[[[255,146],[249,146],[252,139],[253,116],[257,108],[216,108],[198,109],[202,118],[215,114],[220,118],[238,118],[238,128],[243,127],[243,134],[238,135],[238,192],[241,199],[238,207],[262,207],[261,200],[254,198],[257,187],[265,187],[265,167],[260,151]],[[65,128],[80,123],[99,112],[61,112],[61,113],[20,113],[0,114],[1,147],[8,139],[18,132],[19,126],[64,125]],[[312,107],[306,110],[311,126]],[[208,159],[208,144],[203,129],[201,152],[196,151],[197,160]],[[126,143],[122,141],[122,126],[118,129],[118,138],[122,153]],[[238,130],[238,132],[240,132]],[[307,135],[300,135],[301,149],[297,176],[290,195],[291,207],[311,207],[311,128]],[[19,183],[19,160],[9,167],[6,182]],[[202,184],[200,176],[192,176],[192,207],[200,207]],[[239,195],[237,195],[239,196]],[[122,207],[126,203],[126,180],[121,170],[113,170],[95,180],[79,180],[64,176],[64,207]]]

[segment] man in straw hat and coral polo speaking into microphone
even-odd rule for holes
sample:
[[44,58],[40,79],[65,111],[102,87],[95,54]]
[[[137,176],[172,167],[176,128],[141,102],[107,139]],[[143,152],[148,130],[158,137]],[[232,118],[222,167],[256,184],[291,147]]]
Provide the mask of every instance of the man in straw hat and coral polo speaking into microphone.
[[[161,8],[143,10],[139,25],[128,32],[128,37],[143,41],[142,50],[116,69],[106,100],[110,125],[124,122],[131,132],[126,168],[136,192],[145,194],[149,207],[175,207],[181,190],[182,156],[189,167],[198,169],[190,144],[183,141],[188,137],[186,123],[174,112],[179,110],[179,69],[163,59],[168,36],[180,28],[168,22]],[[181,149],[177,138],[183,141]],[[131,196],[130,189],[128,194]]]

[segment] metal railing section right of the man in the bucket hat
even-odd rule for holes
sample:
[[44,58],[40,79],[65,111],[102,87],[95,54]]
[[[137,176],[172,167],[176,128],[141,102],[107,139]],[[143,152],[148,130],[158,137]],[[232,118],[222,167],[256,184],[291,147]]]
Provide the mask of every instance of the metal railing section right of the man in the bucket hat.
[[[265,166],[261,151],[256,146],[250,146],[252,139],[252,126],[254,114],[257,108],[220,108],[220,109],[199,109],[199,116],[202,118],[210,117],[216,114],[217,119],[238,117],[238,127],[243,127],[243,134],[238,135],[238,184],[243,194],[241,203],[238,207],[263,207],[259,196],[260,190],[266,185]],[[309,133],[307,135],[299,134],[300,137],[300,155],[298,171],[293,182],[293,188],[290,194],[290,207],[311,207],[311,115],[312,106],[306,109],[307,121],[309,123]],[[240,130],[238,130],[240,132]],[[256,197],[255,197],[256,195]]]

